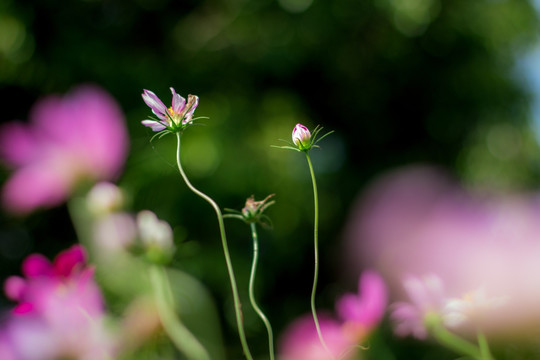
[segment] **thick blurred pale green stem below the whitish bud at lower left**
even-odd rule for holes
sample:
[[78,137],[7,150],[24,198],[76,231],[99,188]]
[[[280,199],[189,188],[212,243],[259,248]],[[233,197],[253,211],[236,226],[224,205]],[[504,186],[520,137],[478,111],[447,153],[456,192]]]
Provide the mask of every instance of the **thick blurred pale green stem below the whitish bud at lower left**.
[[171,341],[188,359],[210,360],[206,349],[176,316],[172,291],[165,269],[152,265],[149,273],[159,318]]

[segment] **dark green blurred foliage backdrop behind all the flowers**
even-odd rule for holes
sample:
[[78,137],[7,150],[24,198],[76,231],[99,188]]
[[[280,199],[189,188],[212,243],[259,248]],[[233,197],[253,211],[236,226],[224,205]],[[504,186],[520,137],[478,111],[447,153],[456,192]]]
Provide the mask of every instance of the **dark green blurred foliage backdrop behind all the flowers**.
[[[274,229],[260,232],[257,293],[279,333],[309,311],[313,203],[303,156],[270,145],[288,140],[298,122],[335,130],[312,152],[321,205],[317,301],[331,309],[355,288],[355,275],[340,267],[348,210],[385,169],[429,162],[477,186],[538,185],[530,96],[515,76],[516,60],[538,41],[538,20],[528,0],[0,0],[2,121],[26,119],[36,99],[79,83],[110,92],[131,134],[119,184],[134,210],[152,209],[173,226],[174,265],[210,289],[227,351],[239,358],[214,214],[178,176],[174,138],[149,142],[142,90],[166,103],[170,86],[200,97],[196,115],[210,119],[185,132],[182,159],[218,204],[240,209],[252,194],[276,194],[267,212]],[[30,252],[52,255],[75,241],[67,219],[63,207],[2,215],[2,273],[18,273]],[[247,303],[249,229],[227,228]],[[262,323],[244,308],[254,353],[264,353]],[[395,341],[382,333],[379,341]],[[396,358],[376,349],[372,356]]]

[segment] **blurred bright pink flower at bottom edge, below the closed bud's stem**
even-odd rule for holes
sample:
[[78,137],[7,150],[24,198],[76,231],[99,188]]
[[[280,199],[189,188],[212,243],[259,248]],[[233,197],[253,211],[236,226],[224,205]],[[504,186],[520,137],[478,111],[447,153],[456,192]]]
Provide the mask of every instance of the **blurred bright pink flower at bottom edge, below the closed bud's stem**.
[[319,317],[321,332],[329,354],[321,344],[311,315],[305,315],[289,326],[282,336],[280,353],[283,360],[351,359],[359,344],[382,320],[387,305],[386,285],[371,270],[359,280],[358,294],[345,294],[336,303],[340,321]]

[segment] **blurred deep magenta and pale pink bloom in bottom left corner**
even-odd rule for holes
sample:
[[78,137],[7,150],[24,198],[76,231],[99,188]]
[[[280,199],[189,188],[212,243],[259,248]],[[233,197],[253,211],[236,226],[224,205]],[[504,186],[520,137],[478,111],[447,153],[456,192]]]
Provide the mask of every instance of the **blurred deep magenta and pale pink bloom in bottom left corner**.
[[103,299],[82,246],[63,251],[53,263],[30,255],[23,274],[5,284],[7,296],[18,302],[2,329],[4,344],[16,359],[111,358]]

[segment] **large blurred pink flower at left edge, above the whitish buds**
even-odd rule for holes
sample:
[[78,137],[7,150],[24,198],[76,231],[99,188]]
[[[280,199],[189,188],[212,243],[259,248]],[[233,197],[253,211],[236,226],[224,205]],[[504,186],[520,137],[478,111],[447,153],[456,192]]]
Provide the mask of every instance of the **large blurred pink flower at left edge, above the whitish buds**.
[[0,157],[15,169],[2,192],[8,210],[56,206],[82,181],[119,174],[128,146],[124,117],[100,88],[80,86],[65,97],[46,97],[30,119],[0,129]]

